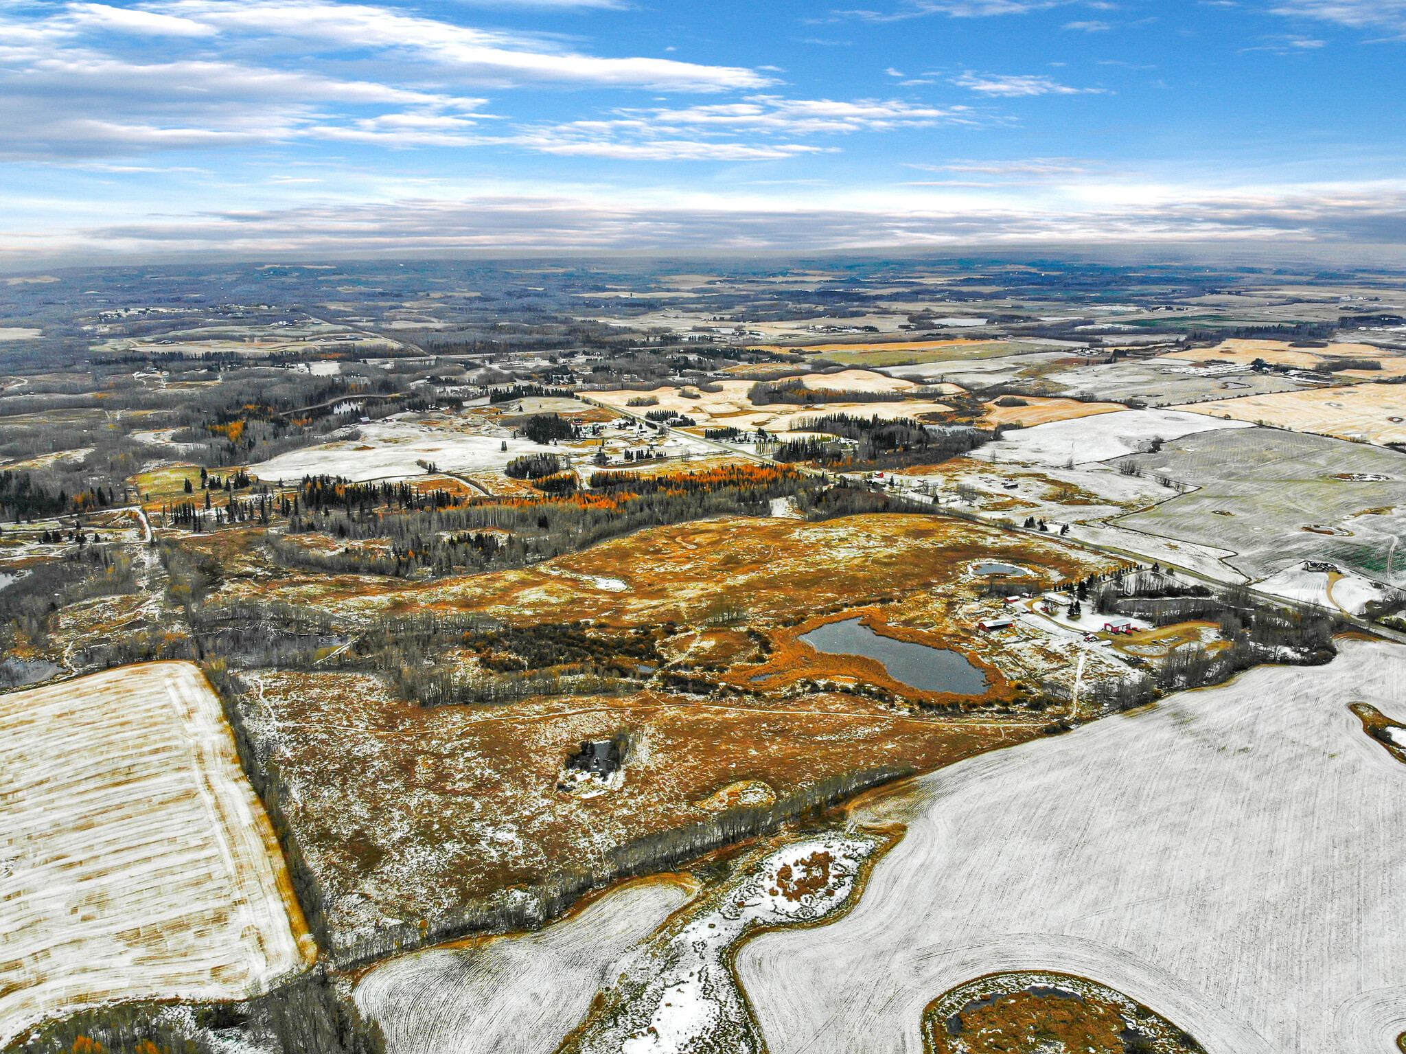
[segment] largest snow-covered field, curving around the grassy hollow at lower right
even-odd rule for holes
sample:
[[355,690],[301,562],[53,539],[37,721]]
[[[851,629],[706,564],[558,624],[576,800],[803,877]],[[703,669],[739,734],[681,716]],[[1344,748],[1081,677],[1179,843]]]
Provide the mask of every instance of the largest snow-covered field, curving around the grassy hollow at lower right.
[[918,780],[849,915],[738,953],[772,1054],[918,1051],[931,999],[1010,970],[1109,985],[1209,1054],[1393,1051],[1406,766],[1348,704],[1406,717],[1406,649],[1340,648]]

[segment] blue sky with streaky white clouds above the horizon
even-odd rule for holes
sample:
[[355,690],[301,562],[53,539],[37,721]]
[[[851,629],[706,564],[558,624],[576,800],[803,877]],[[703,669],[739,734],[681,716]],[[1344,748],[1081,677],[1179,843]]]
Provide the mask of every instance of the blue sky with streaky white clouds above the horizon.
[[1406,0],[0,3],[0,266],[1406,242]]

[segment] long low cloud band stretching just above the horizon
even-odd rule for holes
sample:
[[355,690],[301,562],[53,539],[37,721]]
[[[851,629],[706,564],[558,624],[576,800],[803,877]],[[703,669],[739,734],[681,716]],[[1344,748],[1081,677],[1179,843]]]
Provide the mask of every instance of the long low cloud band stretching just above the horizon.
[[[35,245],[86,253],[436,254],[453,250],[844,250],[1101,242],[1406,242],[1406,188],[1301,187],[1194,194],[1122,188],[1098,204],[1028,207],[911,197],[890,205],[621,204],[495,195],[163,216],[55,232]],[[918,193],[918,191],[915,191]],[[960,193],[959,188],[946,194]]]

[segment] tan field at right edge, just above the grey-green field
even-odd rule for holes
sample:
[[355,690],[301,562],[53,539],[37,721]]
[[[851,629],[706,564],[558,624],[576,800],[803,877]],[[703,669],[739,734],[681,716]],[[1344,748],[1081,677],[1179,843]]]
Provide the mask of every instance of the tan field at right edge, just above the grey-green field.
[[1406,386],[1395,384],[1357,384],[1310,392],[1247,395],[1174,409],[1263,422],[1279,429],[1378,445],[1406,443]]

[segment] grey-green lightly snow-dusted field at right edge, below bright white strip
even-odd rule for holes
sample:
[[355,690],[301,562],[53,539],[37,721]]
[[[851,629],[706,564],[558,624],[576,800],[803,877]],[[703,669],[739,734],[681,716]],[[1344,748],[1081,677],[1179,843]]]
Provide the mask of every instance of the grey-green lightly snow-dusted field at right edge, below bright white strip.
[[[1147,534],[1229,549],[1254,579],[1323,559],[1386,582],[1406,533],[1406,460],[1393,451],[1278,429],[1206,431],[1128,458],[1197,490],[1116,523]],[[1339,476],[1385,476],[1340,479]],[[1392,561],[1406,583],[1406,552]]]

